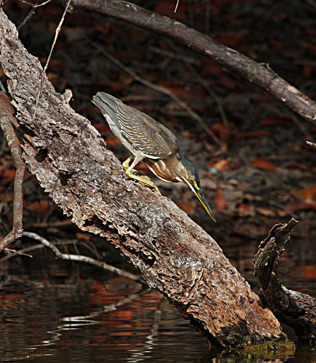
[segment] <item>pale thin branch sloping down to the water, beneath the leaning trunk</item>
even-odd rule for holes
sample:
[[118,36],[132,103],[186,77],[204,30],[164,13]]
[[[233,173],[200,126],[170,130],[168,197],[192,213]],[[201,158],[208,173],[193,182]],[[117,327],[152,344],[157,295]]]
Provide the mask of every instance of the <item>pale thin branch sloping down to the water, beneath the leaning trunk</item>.
[[143,280],[140,276],[137,276],[137,275],[134,275],[127,271],[121,270],[117,267],[108,265],[105,262],[97,261],[94,258],[91,258],[88,256],[61,253],[56,246],[54,246],[51,242],[47,241],[44,237],[39,236],[37,233],[23,232],[23,236],[33,238],[34,240],[40,241],[43,245],[50,248],[55,253],[56,257],[61,258],[61,260],[86,262],[87,264],[100,267],[101,269],[116,273],[120,276],[124,276],[124,277],[128,278],[129,280],[140,282],[140,284],[142,284],[142,285],[145,285],[145,286],[148,285],[147,282],[145,280]]

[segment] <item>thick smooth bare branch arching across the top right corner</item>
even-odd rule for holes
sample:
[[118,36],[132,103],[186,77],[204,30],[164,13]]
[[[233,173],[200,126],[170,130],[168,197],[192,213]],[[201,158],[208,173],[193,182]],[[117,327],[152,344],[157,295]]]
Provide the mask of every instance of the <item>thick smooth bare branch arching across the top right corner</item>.
[[269,65],[259,64],[179,21],[123,0],[72,0],[71,7],[113,16],[177,41],[253,82],[302,117],[316,121],[316,103],[279,77]]

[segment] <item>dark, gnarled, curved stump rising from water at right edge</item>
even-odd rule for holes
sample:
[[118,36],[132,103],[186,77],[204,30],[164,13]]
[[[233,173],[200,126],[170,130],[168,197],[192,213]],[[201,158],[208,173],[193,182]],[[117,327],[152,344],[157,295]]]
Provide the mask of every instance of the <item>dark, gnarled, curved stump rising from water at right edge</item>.
[[280,321],[291,326],[300,340],[315,343],[316,299],[288,290],[277,276],[280,256],[296,223],[292,218],[288,224],[277,224],[271,229],[254,258],[254,272],[259,279],[261,306],[269,307]]

